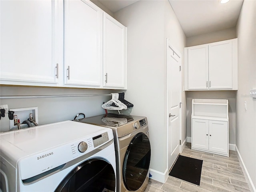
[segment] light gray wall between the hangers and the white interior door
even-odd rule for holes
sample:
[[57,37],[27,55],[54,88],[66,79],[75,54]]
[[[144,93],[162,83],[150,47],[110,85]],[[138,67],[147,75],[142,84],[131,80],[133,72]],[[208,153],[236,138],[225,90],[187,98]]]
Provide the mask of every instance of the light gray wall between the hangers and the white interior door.
[[148,118],[150,168],[166,173],[166,38],[170,38],[183,58],[186,38],[167,0],[138,1],[116,12],[114,17],[127,26],[126,95],[134,100],[132,114]]

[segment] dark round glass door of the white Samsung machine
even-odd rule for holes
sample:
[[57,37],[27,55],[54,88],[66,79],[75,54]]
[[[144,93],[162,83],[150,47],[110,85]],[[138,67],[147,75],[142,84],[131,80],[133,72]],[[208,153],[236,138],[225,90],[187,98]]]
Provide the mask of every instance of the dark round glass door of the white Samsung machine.
[[86,160],[62,180],[55,192],[115,191],[116,176],[111,164],[101,158]]

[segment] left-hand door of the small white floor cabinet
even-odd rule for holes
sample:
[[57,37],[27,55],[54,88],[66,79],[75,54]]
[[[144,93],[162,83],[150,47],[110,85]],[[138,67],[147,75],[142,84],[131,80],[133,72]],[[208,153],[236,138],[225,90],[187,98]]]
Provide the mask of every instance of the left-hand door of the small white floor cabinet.
[[209,120],[192,119],[192,147],[208,149]]

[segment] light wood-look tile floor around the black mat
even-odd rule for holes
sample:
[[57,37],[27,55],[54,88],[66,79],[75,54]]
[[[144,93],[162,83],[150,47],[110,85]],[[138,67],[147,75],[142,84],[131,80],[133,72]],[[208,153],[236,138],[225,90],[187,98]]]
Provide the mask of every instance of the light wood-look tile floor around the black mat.
[[225,157],[191,150],[187,143],[181,155],[203,160],[200,186],[169,176],[166,183],[149,179],[145,192],[250,192],[235,151]]

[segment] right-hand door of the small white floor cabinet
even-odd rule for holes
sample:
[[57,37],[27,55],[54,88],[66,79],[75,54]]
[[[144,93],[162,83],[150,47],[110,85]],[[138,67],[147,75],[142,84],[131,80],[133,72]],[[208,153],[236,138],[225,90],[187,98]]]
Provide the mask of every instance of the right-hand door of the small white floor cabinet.
[[228,152],[228,122],[209,121],[209,150]]

